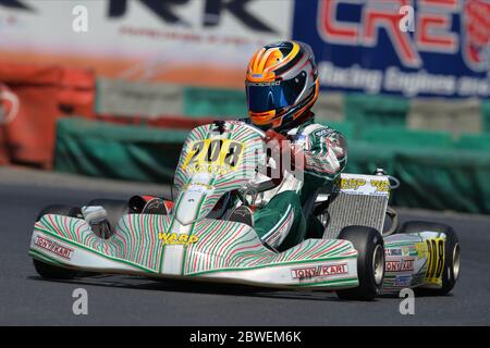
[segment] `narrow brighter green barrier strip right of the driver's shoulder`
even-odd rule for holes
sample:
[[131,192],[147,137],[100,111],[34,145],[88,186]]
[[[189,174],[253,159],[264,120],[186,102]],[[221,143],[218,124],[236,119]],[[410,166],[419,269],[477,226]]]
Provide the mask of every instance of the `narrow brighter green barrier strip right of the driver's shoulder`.
[[449,132],[412,130],[399,126],[370,126],[363,132],[362,139],[368,142],[412,147],[452,148],[453,137]]

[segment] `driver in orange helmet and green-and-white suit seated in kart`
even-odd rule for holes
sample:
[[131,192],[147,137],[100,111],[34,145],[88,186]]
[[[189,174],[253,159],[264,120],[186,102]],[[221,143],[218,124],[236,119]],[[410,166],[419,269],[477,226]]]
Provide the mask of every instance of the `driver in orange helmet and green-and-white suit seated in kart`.
[[311,214],[313,203],[318,189],[331,185],[345,167],[347,147],[341,133],[315,123],[311,107],[319,80],[311,48],[299,41],[264,46],[248,63],[245,88],[247,122],[266,130],[266,141],[279,150],[303,157],[303,175],[284,171],[257,209],[242,206],[241,215],[248,214],[261,240],[279,251],[303,241],[307,231],[321,238],[323,226]]

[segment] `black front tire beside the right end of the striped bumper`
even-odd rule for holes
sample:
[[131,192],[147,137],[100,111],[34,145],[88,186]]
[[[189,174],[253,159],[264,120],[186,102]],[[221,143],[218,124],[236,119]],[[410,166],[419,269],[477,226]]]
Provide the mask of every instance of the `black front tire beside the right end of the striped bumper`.
[[384,243],[381,234],[368,226],[346,226],[339,239],[352,243],[357,250],[357,276],[359,285],[355,288],[338,290],[345,300],[370,301],[381,289],[384,277]]

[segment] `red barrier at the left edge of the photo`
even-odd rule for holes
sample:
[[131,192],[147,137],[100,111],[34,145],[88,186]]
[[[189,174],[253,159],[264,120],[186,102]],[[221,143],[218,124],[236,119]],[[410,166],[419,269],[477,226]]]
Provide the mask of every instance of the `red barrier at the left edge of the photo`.
[[[52,166],[57,120],[94,115],[95,76],[83,70],[0,63],[0,163]],[[7,87],[5,87],[7,86]]]

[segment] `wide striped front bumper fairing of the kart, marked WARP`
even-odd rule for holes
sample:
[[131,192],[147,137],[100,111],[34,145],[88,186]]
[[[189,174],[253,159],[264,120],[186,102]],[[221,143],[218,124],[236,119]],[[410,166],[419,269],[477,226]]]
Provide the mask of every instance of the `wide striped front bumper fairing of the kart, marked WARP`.
[[[355,270],[357,252],[346,240],[308,239],[292,249],[275,253],[265,248],[255,231],[247,225],[205,219],[193,224],[189,232],[196,237],[196,243],[169,246],[159,239],[159,233],[172,231],[171,225],[172,217],[166,215],[124,215],[117,233],[106,240],[97,237],[83,220],[50,214],[36,223],[34,236],[38,232],[69,245],[75,252],[79,248],[84,252],[89,251],[98,257],[128,264],[148,274],[219,277],[226,273],[261,269],[270,271],[274,268],[278,272],[279,270],[290,272],[290,266],[297,268],[302,264],[318,266],[350,260],[348,262],[354,264],[351,265],[350,278],[357,282]],[[173,247],[181,247],[184,252],[180,253],[181,259],[168,261],[172,265],[164,264],[164,254]],[[32,250],[42,253],[34,241]],[[63,263],[61,259],[58,261]],[[179,270],[175,270],[176,264]],[[166,270],[173,271],[167,273]],[[352,274],[355,275],[355,279]],[[339,282],[342,282],[342,278],[339,278]],[[294,285],[291,283],[287,285]],[[315,279],[301,282],[303,285],[311,286],[315,283]]]

